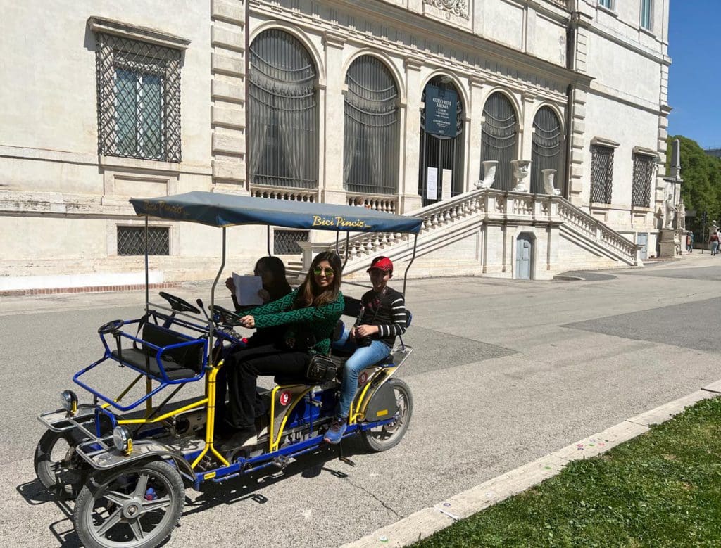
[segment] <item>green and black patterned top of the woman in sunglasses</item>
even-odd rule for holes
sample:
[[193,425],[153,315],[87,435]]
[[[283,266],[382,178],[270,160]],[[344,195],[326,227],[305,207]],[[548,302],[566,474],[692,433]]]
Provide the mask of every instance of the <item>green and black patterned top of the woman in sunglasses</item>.
[[291,309],[297,295],[298,289],[293,289],[285,297],[244,310],[242,314],[255,318],[256,328],[288,325],[286,341],[294,338],[295,333],[310,331],[316,339],[311,354],[330,354],[330,336],[345,307],[342,293],[339,291],[337,299],[327,305]]

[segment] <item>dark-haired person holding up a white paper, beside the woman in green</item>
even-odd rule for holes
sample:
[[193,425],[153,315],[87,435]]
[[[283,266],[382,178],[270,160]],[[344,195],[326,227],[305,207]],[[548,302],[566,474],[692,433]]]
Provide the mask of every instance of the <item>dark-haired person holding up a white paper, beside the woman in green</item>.
[[278,257],[261,257],[255,264],[253,276],[239,276],[235,272],[226,279],[235,310],[265,305],[291,292],[286,279],[286,266]]

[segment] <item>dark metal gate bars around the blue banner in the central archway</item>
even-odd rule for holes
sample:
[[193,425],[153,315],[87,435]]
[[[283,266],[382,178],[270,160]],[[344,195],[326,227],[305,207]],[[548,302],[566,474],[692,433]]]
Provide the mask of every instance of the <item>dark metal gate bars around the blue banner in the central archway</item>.
[[[437,86],[454,91],[458,98],[456,103],[456,132],[457,135],[451,139],[442,139],[430,135],[425,132],[425,108],[420,113],[420,170],[418,171],[419,188],[421,190],[421,198],[423,205],[429,205],[437,202],[442,197],[443,192],[443,170],[451,170],[451,196],[457,196],[463,193],[463,158],[464,158],[464,135],[463,135],[463,102],[461,94],[454,84],[446,81],[445,76],[435,76],[432,78],[428,86]],[[421,102],[425,104],[425,92]],[[436,186],[436,197],[428,197],[428,168],[435,167],[438,169],[438,181]]]

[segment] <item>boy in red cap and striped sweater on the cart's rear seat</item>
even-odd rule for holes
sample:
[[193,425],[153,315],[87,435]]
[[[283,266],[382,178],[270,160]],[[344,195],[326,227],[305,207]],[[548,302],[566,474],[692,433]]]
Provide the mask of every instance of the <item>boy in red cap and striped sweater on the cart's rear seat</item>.
[[353,352],[343,366],[340,400],[335,421],[324,440],[337,444],[348,428],[350,404],[358,390],[358,374],[388,356],[396,337],[405,333],[406,310],[402,293],[388,287],[393,277],[393,262],[388,257],[376,257],[368,269],[373,289],[361,297],[361,313],[353,328],[345,328],[341,338],[333,343],[335,349]]

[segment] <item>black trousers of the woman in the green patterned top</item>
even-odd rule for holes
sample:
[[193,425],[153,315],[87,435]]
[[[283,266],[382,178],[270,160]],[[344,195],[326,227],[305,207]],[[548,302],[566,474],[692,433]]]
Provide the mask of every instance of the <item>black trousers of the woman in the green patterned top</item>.
[[303,376],[309,359],[306,351],[288,350],[277,344],[253,346],[231,354],[223,367],[227,367],[230,393],[226,422],[238,429],[255,427],[258,375]]

